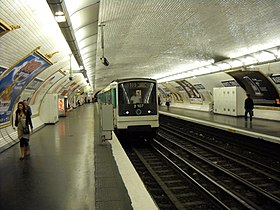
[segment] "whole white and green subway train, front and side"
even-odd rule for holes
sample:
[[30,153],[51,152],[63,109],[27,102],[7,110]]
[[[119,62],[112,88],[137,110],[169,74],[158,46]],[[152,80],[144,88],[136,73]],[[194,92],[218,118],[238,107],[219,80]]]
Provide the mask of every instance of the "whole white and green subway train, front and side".
[[116,134],[152,137],[159,127],[157,82],[147,78],[112,81],[96,94],[99,104],[112,104]]

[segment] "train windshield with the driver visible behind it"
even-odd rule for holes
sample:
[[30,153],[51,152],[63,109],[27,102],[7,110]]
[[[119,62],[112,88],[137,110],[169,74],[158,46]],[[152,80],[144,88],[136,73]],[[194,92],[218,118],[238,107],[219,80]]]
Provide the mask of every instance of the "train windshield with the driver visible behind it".
[[152,82],[126,82],[119,84],[120,104],[156,103],[156,85]]

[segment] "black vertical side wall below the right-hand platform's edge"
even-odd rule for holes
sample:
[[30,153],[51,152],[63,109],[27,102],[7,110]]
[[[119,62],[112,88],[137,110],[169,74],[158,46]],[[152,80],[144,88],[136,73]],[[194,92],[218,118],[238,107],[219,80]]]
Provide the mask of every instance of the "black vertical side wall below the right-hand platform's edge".
[[269,166],[272,170],[280,171],[279,144],[164,115],[160,115],[160,124],[161,127],[176,130],[184,136],[216,145],[264,166]]

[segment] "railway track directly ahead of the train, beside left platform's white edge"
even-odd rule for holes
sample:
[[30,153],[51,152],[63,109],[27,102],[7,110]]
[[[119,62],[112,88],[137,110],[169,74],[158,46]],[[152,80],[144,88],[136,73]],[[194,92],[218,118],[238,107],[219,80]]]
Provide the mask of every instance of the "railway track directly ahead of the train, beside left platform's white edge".
[[229,209],[152,146],[126,152],[159,209]]

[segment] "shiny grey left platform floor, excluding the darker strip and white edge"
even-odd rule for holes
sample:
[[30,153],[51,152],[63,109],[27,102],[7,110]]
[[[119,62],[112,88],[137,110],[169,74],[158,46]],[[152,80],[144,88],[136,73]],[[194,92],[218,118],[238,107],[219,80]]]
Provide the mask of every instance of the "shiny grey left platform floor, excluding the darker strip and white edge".
[[79,107],[0,154],[0,209],[95,209],[93,105]]

